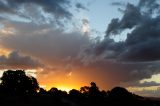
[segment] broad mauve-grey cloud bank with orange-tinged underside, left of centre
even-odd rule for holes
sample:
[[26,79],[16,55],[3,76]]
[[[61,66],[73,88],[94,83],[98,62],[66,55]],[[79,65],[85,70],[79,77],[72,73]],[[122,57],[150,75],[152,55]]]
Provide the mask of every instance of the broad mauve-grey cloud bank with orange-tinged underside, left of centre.
[[89,43],[89,37],[79,31],[65,32],[48,24],[37,27],[34,23],[6,22],[5,25],[13,27],[16,33],[1,36],[2,46],[36,57],[47,65],[58,66],[68,58],[76,58],[83,45]]

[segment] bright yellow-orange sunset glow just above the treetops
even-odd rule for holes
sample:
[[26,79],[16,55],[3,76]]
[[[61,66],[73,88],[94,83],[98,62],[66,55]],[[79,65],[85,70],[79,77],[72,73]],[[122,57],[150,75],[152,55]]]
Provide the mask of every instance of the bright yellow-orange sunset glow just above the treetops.
[[78,71],[56,71],[50,74],[38,74],[37,80],[39,85],[46,90],[56,87],[58,90],[69,92],[72,89],[79,90],[80,87],[89,85],[87,78],[83,78]]

